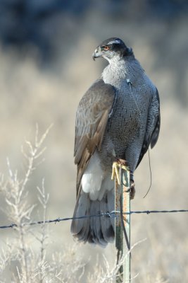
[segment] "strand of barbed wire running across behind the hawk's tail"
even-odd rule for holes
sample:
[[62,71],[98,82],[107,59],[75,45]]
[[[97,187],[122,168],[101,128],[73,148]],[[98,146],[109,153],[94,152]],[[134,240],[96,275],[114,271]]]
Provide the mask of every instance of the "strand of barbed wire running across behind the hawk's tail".
[[[155,214],[155,213],[177,213],[177,212],[188,212],[188,209],[173,209],[173,210],[141,210],[141,211],[131,211],[131,212],[123,212],[123,214]],[[118,217],[118,214],[121,214],[120,211],[113,210],[112,212],[104,212],[101,214],[94,214],[94,215],[84,215],[84,216],[77,216],[77,217],[65,217],[65,218],[56,218],[53,220],[46,220],[46,221],[34,221],[23,223],[21,226],[32,226],[37,224],[50,224],[50,223],[57,223],[61,221],[69,221],[73,219],[85,219],[85,218],[92,218],[92,217]],[[17,224],[9,224],[0,226],[0,229],[7,229],[7,228],[14,228],[18,227]]]

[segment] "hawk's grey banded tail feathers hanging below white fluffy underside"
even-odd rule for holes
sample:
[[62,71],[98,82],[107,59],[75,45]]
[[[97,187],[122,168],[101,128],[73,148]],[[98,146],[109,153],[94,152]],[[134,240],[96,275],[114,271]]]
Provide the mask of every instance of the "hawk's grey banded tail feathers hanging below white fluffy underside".
[[[111,196],[112,194],[112,196]],[[108,204],[108,200],[111,201]],[[77,200],[74,216],[89,216],[98,215],[105,212],[110,212],[114,209],[113,192],[106,193],[104,197],[99,200],[90,200],[89,194],[81,190],[80,197]],[[114,219],[108,216],[96,216],[84,219],[73,219],[71,224],[71,232],[78,241],[84,243],[95,243],[100,246],[106,246],[114,240]]]

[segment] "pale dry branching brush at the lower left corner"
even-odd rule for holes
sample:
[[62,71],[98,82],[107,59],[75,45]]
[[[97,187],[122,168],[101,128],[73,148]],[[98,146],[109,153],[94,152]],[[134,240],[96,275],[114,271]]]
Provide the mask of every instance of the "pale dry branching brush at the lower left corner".
[[[45,147],[44,139],[49,132],[39,138],[38,127],[35,135],[35,142],[25,141],[27,149],[23,149],[23,156],[26,159],[26,171],[23,178],[19,178],[18,171],[11,170],[8,163],[8,179],[1,177],[1,193],[6,202],[7,221],[15,224],[13,227],[13,241],[6,240],[6,246],[1,250],[0,263],[1,275],[4,281],[30,283],[30,282],[80,282],[84,272],[84,263],[77,256],[76,247],[65,248],[62,252],[54,251],[50,258],[47,258],[47,246],[49,229],[46,227],[46,209],[49,201],[49,194],[45,193],[44,180],[42,188],[37,187],[36,193],[39,204],[42,206],[43,224],[36,230],[31,226],[32,214],[37,204],[28,201],[29,191],[27,184],[32,178],[33,171],[41,163]],[[35,242],[37,249],[35,250]],[[11,276],[6,275],[6,270],[11,270]],[[80,279],[79,279],[80,278]]]

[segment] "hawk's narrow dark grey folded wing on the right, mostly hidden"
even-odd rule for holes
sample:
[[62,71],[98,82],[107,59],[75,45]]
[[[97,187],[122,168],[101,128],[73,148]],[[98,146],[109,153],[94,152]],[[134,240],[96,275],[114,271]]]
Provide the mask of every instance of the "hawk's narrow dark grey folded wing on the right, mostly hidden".
[[158,90],[156,88],[156,93],[154,93],[153,98],[151,100],[151,105],[149,108],[148,120],[146,125],[146,134],[144,137],[144,142],[142,145],[142,150],[139,155],[139,163],[142,161],[144,154],[149,149],[149,145],[151,149],[156,145],[158,140],[158,135],[160,132],[160,125],[161,125],[161,115],[160,115],[160,100],[158,96]]

